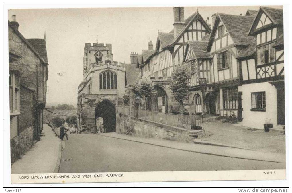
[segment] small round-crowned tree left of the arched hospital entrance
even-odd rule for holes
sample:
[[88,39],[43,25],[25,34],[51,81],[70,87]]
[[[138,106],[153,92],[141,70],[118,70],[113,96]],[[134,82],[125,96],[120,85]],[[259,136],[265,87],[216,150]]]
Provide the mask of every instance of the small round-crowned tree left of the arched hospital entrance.
[[132,91],[138,97],[150,97],[153,89],[151,80],[140,79],[134,84]]

